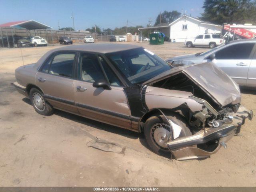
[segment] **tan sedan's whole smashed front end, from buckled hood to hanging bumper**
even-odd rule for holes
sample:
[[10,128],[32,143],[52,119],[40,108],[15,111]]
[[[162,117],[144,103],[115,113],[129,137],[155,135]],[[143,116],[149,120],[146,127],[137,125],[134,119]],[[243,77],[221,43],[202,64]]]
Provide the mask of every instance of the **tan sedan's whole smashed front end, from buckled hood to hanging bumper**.
[[[206,158],[221,146],[226,148],[226,142],[240,132],[245,119],[251,120],[253,116],[252,111],[240,104],[239,86],[212,63],[177,67],[145,84],[168,89],[170,94],[175,93],[170,102],[176,102],[176,98],[190,93],[187,98],[202,106],[202,109],[194,110],[191,108],[193,105],[184,98],[188,112],[179,112],[180,107],[174,110],[186,118],[192,132],[192,136],[173,138],[166,143],[177,160]],[[177,91],[182,95],[179,96]],[[182,106],[181,103],[179,106]]]

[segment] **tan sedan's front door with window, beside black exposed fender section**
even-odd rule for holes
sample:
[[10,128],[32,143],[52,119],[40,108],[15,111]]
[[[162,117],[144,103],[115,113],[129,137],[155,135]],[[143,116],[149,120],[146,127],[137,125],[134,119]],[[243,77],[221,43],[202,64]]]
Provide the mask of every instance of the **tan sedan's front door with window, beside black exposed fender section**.
[[[111,90],[95,88],[92,84],[96,81],[107,81]],[[74,93],[76,107],[83,116],[131,128],[130,108],[122,84],[101,56],[80,53]]]

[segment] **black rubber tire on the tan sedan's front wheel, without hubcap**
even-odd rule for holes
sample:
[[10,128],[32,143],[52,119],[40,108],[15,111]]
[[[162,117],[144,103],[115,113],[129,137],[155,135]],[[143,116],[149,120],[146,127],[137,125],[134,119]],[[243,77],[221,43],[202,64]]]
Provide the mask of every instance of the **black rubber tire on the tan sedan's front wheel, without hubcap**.
[[[188,124],[186,124],[186,121],[184,120],[184,118],[182,116],[179,116],[179,115],[176,115],[176,114],[175,115],[171,114],[171,115],[166,116],[166,117],[168,119],[172,120],[172,122],[174,122],[175,124],[182,127],[182,131],[180,133],[179,138],[192,135]],[[170,155],[170,153],[171,153],[170,150],[168,149],[167,146],[166,146],[166,148],[163,148],[163,147],[159,146],[156,143],[156,141],[154,140],[154,133],[152,133],[152,130],[154,129],[154,125],[159,124],[159,123],[163,123],[163,124],[168,125],[168,127],[170,129],[170,124],[163,115],[151,116],[145,122],[144,136],[146,138],[146,141],[147,141],[148,145],[150,146],[150,149],[154,153],[156,153],[158,155],[167,156],[167,155]]]

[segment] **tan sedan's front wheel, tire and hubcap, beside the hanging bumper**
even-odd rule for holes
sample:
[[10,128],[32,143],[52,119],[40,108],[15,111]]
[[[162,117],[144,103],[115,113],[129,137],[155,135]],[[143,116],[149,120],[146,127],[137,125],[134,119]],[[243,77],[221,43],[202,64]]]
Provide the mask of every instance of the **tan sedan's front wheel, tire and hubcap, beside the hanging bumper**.
[[[191,136],[191,131],[184,118],[178,115],[166,116],[169,120],[182,128],[180,137]],[[148,118],[144,125],[144,136],[150,149],[158,155],[169,155],[170,150],[166,142],[172,140],[172,130],[163,115]]]

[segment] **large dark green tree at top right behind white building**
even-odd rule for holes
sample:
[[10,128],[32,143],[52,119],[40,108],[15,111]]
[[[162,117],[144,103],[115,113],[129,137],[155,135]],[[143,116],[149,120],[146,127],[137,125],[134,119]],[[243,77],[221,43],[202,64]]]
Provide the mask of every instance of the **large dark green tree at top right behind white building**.
[[256,24],[256,1],[252,0],[205,0],[200,19],[214,24]]

